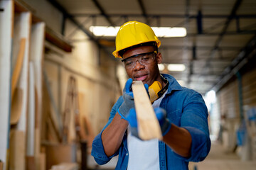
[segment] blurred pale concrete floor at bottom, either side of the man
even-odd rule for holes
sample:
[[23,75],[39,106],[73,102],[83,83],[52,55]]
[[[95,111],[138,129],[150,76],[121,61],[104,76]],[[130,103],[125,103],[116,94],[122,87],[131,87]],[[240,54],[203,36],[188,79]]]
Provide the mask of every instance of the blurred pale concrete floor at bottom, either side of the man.
[[[97,166],[94,159],[88,157],[88,166],[90,169],[114,169],[117,163],[117,157],[114,157],[111,162],[104,166]],[[188,166],[189,170],[255,170],[256,161],[242,161],[238,154],[226,152],[222,145],[218,142],[212,142],[212,147],[208,157],[203,162],[191,162]]]

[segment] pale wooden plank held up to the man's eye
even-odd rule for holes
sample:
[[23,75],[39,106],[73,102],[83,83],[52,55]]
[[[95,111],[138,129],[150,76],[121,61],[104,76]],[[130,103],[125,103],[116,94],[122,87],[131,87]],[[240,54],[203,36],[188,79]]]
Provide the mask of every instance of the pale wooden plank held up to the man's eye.
[[161,140],[161,129],[156,119],[154,109],[151,106],[149,96],[142,81],[133,81],[132,91],[134,94],[135,110],[137,115],[139,137],[142,140],[158,138]]

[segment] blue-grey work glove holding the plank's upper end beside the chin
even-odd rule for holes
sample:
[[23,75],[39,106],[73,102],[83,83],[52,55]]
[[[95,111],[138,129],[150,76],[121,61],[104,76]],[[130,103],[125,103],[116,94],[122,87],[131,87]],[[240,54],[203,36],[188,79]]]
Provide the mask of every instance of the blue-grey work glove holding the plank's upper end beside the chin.
[[[144,86],[146,88],[146,91],[149,91],[149,85],[144,84]],[[119,115],[121,115],[121,117],[124,120],[127,120],[127,115],[129,114],[129,110],[131,108],[134,108],[134,96],[132,93],[132,79],[131,78],[127,80],[127,82],[124,86],[122,98],[124,98],[124,102],[119,107],[118,113],[119,113]]]

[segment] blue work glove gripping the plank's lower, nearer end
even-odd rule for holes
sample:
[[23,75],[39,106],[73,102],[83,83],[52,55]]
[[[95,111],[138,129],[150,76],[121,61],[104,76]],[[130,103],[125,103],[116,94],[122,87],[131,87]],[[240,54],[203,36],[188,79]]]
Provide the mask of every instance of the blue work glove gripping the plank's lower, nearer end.
[[[166,111],[164,110],[164,108],[154,108],[154,111],[156,113],[157,120],[159,120],[162,135],[164,136],[171,129],[171,123],[169,119],[166,118]],[[127,120],[131,126],[132,135],[139,138],[135,108],[131,108],[131,110],[129,111],[129,115],[127,115]]]

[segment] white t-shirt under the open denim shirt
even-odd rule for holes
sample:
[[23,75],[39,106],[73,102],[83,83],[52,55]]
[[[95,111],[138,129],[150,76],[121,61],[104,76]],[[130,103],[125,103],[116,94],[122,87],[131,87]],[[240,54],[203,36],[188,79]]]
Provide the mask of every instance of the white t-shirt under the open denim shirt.
[[[153,107],[160,106],[162,98],[153,103]],[[139,140],[132,136],[128,128],[127,145],[129,152],[128,168],[127,170],[158,170],[159,169],[159,140]]]

